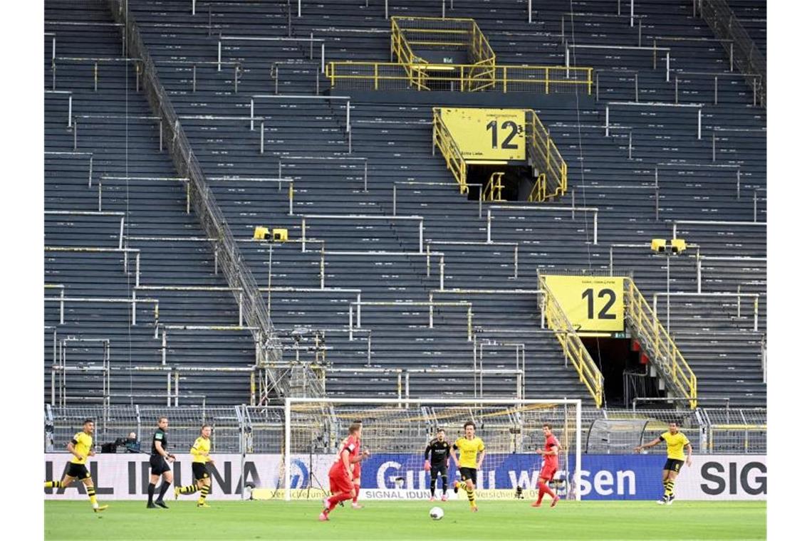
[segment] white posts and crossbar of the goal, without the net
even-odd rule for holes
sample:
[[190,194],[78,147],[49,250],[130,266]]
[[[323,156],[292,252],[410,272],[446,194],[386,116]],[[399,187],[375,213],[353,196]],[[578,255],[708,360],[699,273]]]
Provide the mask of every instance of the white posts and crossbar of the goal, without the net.
[[581,500],[581,399],[558,398],[547,400],[516,399],[516,398],[469,398],[456,400],[453,398],[285,398],[285,448],[284,448],[284,477],[285,500],[291,500],[291,407],[294,404],[324,404],[364,406],[364,405],[430,405],[430,406],[575,406],[575,470],[572,471],[572,482],[575,484],[575,499]]

